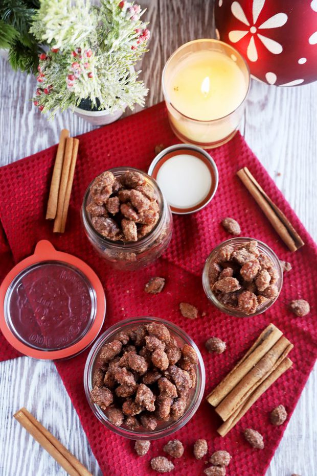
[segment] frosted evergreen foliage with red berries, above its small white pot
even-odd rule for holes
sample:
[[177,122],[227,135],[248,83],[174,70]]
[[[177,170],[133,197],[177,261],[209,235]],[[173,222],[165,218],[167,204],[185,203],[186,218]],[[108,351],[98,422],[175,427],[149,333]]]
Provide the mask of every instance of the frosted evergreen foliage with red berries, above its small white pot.
[[143,105],[147,89],[132,68],[147,51],[143,13],[118,0],[41,0],[30,32],[49,50],[39,55],[34,104],[51,116],[83,102],[109,113]]

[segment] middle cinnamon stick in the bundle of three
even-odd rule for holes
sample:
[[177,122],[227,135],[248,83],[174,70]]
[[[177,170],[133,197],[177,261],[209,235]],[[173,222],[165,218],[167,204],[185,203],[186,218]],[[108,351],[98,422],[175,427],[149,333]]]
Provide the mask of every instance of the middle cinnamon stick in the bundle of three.
[[228,420],[240,408],[251,393],[285,359],[293,345],[283,336],[262,359],[250,370],[233,390],[216,407],[216,413],[223,421]]

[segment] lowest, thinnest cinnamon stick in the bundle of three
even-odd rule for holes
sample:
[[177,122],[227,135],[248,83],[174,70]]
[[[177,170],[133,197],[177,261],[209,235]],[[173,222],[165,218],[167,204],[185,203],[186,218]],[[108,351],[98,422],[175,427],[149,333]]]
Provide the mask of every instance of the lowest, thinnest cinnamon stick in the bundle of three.
[[255,403],[258,398],[272,385],[276,380],[284,373],[286,370],[288,370],[292,366],[292,361],[288,358],[283,359],[282,362],[276,367],[276,369],[271,372],[267,378],[263,380],[261,385],[255,389],[255,391],[248,397],[248,399],[244,402],[244,404],[239,407],[232,415],[231,417],[226,420],[224,423],[222,423],[221,426],[219,426],[217,432],[221,436],[227,435],[227,433],[230,432],[230,430],[233,429],[233,427],[238,423],[238,421],[241,420],[243,415],[247,412],[248,409],[250,409]]

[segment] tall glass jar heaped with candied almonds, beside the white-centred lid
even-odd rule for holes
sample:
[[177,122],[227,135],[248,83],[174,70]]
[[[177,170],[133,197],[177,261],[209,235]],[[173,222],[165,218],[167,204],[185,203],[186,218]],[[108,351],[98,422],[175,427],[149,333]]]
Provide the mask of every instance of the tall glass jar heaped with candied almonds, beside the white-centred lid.
[[147,266],[171,240],[171,210],[160,187],[131,167],[96,177],[84,195],[81,217],[90,243],[118,269]]

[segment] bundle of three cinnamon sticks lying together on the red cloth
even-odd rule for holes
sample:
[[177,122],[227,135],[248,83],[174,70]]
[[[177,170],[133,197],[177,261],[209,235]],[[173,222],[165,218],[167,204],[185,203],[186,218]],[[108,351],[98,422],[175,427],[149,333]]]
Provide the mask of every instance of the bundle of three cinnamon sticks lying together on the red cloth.
[[253,403],[282,375],[292,362],[287,358],[293,345],[280,329],[269,324],[238,364],[208,395],[223,423],[221,436],[238,423]]

